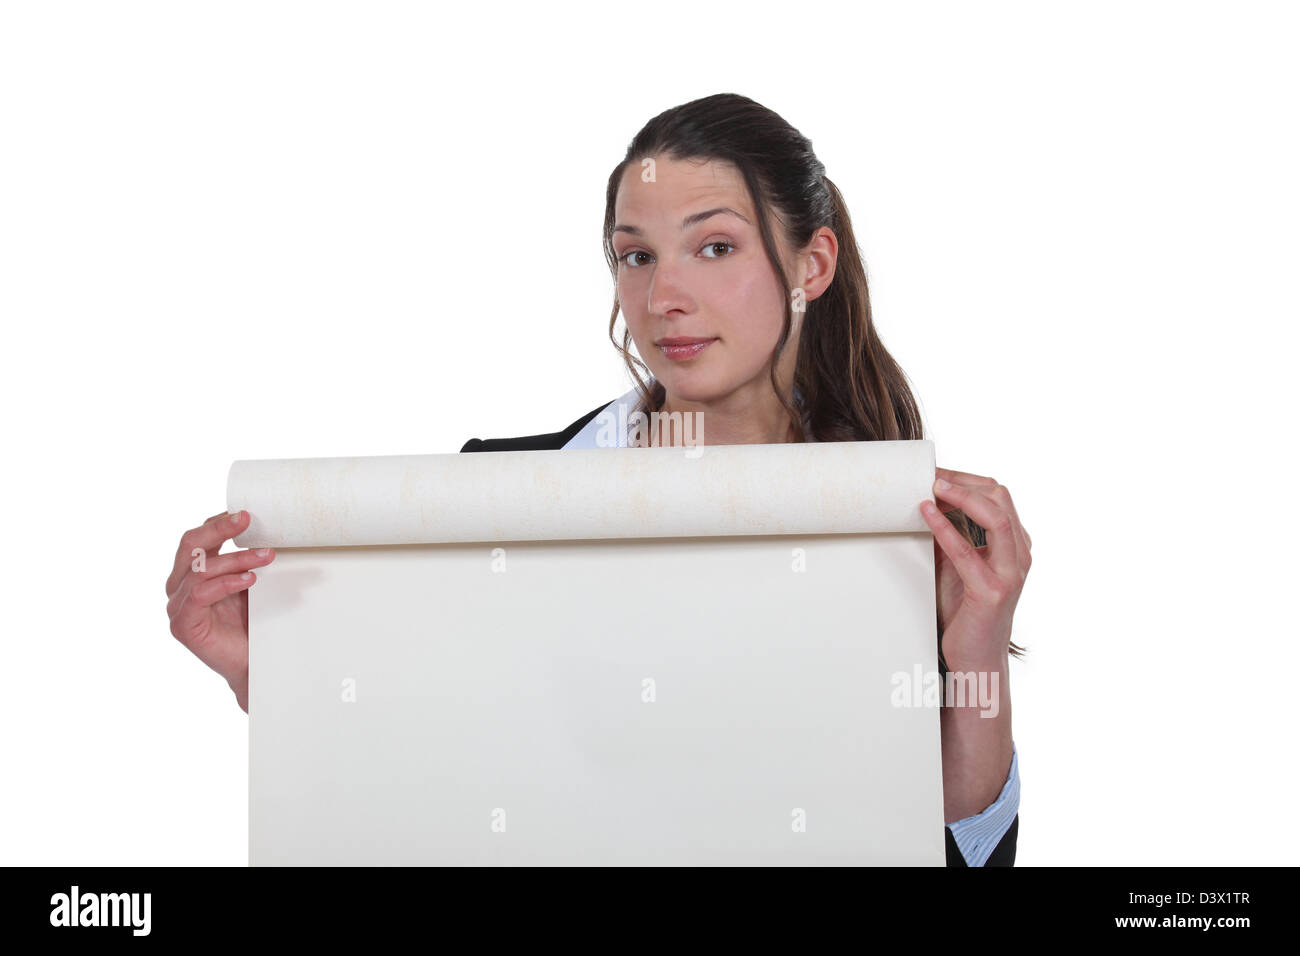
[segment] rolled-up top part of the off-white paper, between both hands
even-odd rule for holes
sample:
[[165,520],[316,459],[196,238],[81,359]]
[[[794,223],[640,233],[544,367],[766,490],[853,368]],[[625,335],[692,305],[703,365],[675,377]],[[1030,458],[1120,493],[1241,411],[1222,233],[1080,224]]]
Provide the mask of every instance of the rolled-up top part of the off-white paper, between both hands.
[[931,441],[240,460],[240,548],[928,532]]

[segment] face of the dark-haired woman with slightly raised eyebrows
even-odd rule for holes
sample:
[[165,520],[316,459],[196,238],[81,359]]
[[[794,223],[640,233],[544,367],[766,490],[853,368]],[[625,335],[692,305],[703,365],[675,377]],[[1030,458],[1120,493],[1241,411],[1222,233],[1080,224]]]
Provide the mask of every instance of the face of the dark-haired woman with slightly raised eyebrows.
[[[762,402],[785,303],[745,181],[716,160],[654,160],[649,182],[642,164],[628,166],[615,202],[619,306],[637,352],[675,403]],[[786,260],[786,274],[797,286],[805,273]],[[801,317],[783,381],[793,381]],[[708,343],[664,342],[679,338]]]

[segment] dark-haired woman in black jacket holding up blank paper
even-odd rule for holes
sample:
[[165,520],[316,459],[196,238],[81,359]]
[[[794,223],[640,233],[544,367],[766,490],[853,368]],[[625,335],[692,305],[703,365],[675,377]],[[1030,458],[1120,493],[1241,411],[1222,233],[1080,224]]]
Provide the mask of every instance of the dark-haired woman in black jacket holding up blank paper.
[[[610,176],[604,250],[616,284],[610,337],[636,389],[562,432],[474,438],[463,451],[658,440],[611,440],[599,428],[602,410],[632,402],[694,412],[712,445],[924,437],[902,369],[872,325],[844,199],[811,143],[776,113],[719,94],[653,118]],[[930,501],[919,507],[935,535],[941,667],[987,674],[1000,691],[993,718],[974,706],[941,710],[948,862],[1010,865],[1019,771],[1008,678],[1009,657],[1020,653],[1010,636],[1031,541],[1006,488],[937,472],[935,498],[949,516]],[[246,710],[247,588],[252,568],[274,554],[234,551],[208,559],[205,571],[191,570],[190,555],[216,554],[247,520],[221,514],[186,532],[168,579],[172,632],[226,678]]]

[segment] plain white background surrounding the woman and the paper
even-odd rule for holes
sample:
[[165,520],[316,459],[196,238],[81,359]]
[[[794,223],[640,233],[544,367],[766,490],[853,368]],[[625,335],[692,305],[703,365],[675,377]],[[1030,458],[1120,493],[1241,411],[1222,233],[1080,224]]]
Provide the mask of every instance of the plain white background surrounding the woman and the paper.
[[812,139],[940,464],[1034,536],[1017,862],[1295,861],[1287,5],[0,10],[0,862],[246,862],[181,533],[233,459],[450,453],[630,388],[606,177],[714,92]]

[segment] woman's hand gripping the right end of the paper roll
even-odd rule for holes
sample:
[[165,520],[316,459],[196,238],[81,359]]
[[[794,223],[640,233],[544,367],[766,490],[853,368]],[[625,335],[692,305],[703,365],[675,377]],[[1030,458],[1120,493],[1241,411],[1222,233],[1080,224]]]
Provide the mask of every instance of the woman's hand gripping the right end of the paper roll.
[[[1030,572],[1034,542],[1011,493],[997,481],[948,468],[935,473],[935,498],[949,507],[926,501],[920,512],[935,535],[944,661],[953,670],[994,667],[1008,654],[1011,617]],[[944,510],[958,507],[984,528],[987,545],[975,548],[944,516]]]

